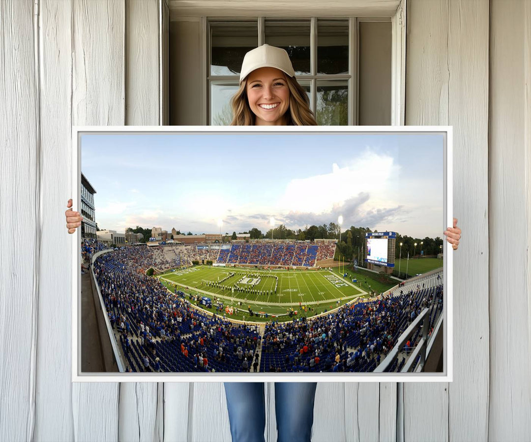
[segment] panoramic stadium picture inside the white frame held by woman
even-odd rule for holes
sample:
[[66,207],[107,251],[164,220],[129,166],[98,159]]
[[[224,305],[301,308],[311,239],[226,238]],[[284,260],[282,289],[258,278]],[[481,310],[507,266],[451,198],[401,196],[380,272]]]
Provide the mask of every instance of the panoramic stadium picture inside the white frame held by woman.
[[444,135],[81,134],[81,372],[442,372]]

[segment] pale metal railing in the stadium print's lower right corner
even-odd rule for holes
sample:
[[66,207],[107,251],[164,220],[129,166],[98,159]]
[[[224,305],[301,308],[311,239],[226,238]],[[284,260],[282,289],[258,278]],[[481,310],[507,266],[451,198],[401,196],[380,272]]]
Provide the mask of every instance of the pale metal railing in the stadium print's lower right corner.
[[415,362],[415,359],[417,356],[421,356],[420,361],[418,361],[418,369],[415,371],[423,371],[424,364],[426,363],[426,346],[427,346],[427,339],[428,339],[428,331],[430,328],[430,309],[424,308],[424,310],[419,314],[415,320],[409,325],[409,327],[400,335],[398,338],[398,341],[396,345],[391,349],[391,351],[388,353],[386,358],[376,367],[374,370],[374,373],[383,373],[386,371],[392,363],[395,361],[395,359],[398,357],[398,353],[400,353],[402,347],[406,344],[406,341],[413,335],[415,330],[418,328],[418,326],[422,322],[422,338],[418,342],[417,346],[415,347],[413,353],[409,356],[406,364],[400,372],[406,373],[408,371],[411,371],[413,369],[413,364]]

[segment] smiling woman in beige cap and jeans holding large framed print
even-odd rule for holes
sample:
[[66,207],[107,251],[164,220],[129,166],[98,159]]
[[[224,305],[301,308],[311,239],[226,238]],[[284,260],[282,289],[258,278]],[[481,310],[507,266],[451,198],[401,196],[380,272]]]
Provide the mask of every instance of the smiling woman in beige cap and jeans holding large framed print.
[[[315,126],[304,89],[284,49],[263,45],[243,60],[240,87],[231,100],[232,126]],[[67,207],[72,207],[72,200]],[[65,212],[66,227],[73,233],[81,225],[79,212]],[[457,249],[461,230],[444,231]],[[275,401],[278,442],[310,441],[315,382],[276,382]],[[226,382],[225,393],[233,442],[264,441],[265,397],[262,382]]]

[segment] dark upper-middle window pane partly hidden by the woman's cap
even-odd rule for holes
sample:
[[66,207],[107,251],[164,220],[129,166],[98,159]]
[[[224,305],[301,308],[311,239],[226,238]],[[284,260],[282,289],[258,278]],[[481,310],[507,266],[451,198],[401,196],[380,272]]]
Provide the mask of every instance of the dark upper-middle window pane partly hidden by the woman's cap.
[[286,49],[295,75],[310,74],[310,20],[265,20],[264,41]]

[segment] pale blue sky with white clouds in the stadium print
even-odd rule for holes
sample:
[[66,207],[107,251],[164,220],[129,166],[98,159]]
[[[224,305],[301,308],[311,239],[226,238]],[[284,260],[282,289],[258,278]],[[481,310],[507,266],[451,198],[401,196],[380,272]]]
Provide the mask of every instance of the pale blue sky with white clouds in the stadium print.
[[98,227],[289,229],[337,222],[442,237],[437,134],[83,135]]

